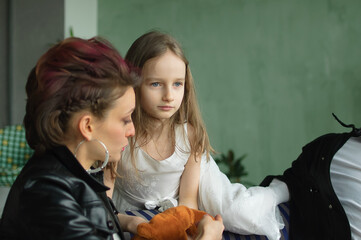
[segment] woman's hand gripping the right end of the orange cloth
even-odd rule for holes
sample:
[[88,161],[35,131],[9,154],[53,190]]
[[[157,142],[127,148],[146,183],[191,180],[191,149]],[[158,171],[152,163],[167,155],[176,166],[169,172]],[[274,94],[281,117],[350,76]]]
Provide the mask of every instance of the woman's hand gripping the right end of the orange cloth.
[[198,223],[196,240],[220,240],[224,230],[223,219],[220,215],[213,220],[208,214]]

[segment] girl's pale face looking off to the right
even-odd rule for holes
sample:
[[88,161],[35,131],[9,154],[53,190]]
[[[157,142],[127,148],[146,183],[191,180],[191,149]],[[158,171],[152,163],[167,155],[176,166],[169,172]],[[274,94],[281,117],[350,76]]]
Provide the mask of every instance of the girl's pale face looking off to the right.
[[149,59],[142,69],[140,104],[150,116],[167,120],[181,106],[184,96],[186,65],[171,51]]

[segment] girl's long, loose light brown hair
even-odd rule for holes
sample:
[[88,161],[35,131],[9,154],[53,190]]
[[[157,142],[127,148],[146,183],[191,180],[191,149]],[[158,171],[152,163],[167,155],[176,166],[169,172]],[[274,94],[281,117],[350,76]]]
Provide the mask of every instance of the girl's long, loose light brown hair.
[[[175,143],[174,128],[176,124],[187,122],[193,127],[193,137],[190,139],[191,152],[194,156],[206,153],[209,157],[210,153],[214,153],[210,145],[208,134],[202,115],[197,103],[194,80],[189,68],[189,62],[186,59],[180,44],[170,35],[158,31],[148,32],[139,37],[129,48],[125,60],[133,67],[142,69],[144,64],[152,58],[163,55],[167,50],[172,51],[186,65],[185,89],[184,97],[179,110],[171,117],[172,142]],[[135,88],[136,108],[132,118],[135,127],[135,137],[130,141],[131,156],[134,164],[134,149],[137,140],[149,139],[150,117],[143,111],[140,105],[140,87]],[[183,136],[185,133],[183,132]],[[139,144],[139,143],[138,143]],[[143,143],[143,144],[146,144]]]

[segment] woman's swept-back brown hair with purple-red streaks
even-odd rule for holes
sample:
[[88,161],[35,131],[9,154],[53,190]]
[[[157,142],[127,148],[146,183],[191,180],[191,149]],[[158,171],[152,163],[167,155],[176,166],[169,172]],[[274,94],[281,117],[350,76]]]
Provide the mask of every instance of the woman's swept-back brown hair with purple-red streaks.
[[26,83],[24,126],[35,152],[61,145],[74,113],[103,118],[140,78],[106,40],[67,38],[40,57]]

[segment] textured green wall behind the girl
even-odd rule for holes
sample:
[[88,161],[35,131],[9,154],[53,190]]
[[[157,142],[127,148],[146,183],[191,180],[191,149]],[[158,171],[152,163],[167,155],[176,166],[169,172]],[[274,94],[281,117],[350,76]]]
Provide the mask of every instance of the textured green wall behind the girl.
[[290,166],[318,135],[361,125],[359,0],[101,0],[98,31],[124,55],[158,29],[183,45],[212,145],[248,181]]

